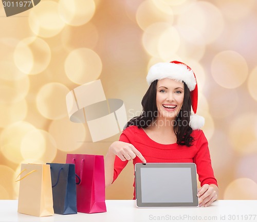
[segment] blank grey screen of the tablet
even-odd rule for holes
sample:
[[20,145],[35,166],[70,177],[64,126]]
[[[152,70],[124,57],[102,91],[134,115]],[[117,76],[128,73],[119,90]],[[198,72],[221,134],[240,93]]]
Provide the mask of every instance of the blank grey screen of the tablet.
[[193,202],[191,180],[190,168],[142,168],[142,202]]

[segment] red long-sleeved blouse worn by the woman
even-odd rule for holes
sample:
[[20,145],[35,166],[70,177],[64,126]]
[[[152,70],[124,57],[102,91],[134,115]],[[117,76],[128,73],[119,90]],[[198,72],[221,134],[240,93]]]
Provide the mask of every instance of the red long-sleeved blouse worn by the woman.
[[[120,135],[119,141],[131,143],[143,155],[146,162],[170,162],[170,163],[188,163],[196,164],[196,170],[201,187],[204,184],[215,184],[217,180],[214,177],[208,141],[201,130],[195,130],[191,136],[194,138],[192,146],[173,144],[160,144],[152,139],[144,132],[142,128],[137,126],[127,127]],[[114,177],[116,180],[120,172],[126,166],[128,161],[122,161],[116,156],[114,162]],[[133,160],[136,163],[142,162],[138,157]],[[134,182],[135,188],[135,182]],[[135,189],[134,189],[135,199]]]

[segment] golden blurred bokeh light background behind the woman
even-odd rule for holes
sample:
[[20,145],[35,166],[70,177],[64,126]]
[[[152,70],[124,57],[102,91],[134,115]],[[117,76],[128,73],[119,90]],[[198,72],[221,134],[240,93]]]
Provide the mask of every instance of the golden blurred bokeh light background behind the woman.
[[[255,0],[42,0],[6,17],[1,2],[0,199],[17,198],[21,163],[105,155],[119,138],[92,142],[87,124],[69,121],[70,90],[100,79],[130,119],[149,67],[172,60],[197,77],[219,198],[257,199],[256,11]],[[132,163],[106,198],[133,198]]]

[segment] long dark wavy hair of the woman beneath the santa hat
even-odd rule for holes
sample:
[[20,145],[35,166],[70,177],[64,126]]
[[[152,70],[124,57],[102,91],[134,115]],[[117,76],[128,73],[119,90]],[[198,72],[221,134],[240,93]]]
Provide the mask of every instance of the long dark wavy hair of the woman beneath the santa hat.
[[[150,126],[158,116],[158,109],[156,105],[156,85],[158,80],[152,82],[142,99],[143,110],[137,117],[132,118],[127,122],[126,127],[136,125],[138,128],[146,128]],[[177,144],[191,146],[193,137],[191,136],[192,128],[189,125],[191,114],[191,97],[190,90],[186,83],[184,83],[184,99],[182,108],[174,121],[174,132],[177,136]]]

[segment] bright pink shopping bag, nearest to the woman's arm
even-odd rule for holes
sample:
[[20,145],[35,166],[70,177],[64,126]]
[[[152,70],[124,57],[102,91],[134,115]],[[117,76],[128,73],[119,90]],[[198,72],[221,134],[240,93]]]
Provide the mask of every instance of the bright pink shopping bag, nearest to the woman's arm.
[[67,154],[74,163],[77,179],[77,208],[82,213],[106,212],[104,159],[101,155]]

